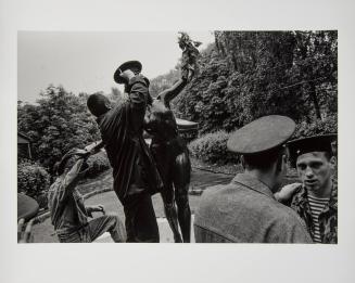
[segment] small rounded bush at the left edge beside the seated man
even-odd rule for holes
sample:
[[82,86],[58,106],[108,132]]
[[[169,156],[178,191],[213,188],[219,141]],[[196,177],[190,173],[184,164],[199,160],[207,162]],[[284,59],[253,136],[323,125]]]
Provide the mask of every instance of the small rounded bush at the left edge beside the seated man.
[[50,175],[43,167],[33,162],[22,162],[17,166],[17,192],[35,198],[40,208],[47,208],[47,191]]

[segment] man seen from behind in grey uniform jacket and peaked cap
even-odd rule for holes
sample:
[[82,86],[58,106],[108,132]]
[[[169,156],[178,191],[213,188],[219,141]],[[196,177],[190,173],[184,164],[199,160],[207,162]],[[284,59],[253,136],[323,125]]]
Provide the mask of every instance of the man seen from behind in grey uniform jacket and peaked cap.
[[292,119],[271,115],[231,134],[228,150],[242,155],[244,172],[203,192],[196,242],[312,243],[297,214],[274,197],[286,171],[284,143],[294,130]]

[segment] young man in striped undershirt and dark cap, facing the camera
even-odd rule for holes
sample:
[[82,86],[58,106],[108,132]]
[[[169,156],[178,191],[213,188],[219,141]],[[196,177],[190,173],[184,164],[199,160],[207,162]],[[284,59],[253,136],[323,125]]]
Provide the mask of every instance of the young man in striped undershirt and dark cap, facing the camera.
[[335,140],[337,134],[324,134],[290,141],[291,165],[297,169],[302,183],[287,185],[276,194],[305,221],[315,243],[338,242]]

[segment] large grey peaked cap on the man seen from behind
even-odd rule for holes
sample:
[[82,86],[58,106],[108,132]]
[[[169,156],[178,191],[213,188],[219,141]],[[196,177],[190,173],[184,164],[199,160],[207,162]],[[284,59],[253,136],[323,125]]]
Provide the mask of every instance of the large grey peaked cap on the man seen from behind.
[[227,147],[243,155],[265,153],[283,145],[293,134],[295,123],[286,116],[258,118],[233,132]]

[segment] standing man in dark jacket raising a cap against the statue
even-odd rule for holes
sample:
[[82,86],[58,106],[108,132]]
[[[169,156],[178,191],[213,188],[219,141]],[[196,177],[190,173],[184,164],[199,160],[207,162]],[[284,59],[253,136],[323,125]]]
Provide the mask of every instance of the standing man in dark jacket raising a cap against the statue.
[[115,80],[125,83],[126,101],[111,108],[107,98],[92,94],[87,104],[97,117],[102,145],[113,167],[114,191],[126,216],[127,242],[159,242],[151,195],[163,183],[142,136],[151,97],[148,79],[139,75],[140,70],[141,64],[134,61],[121,65],[115,73]]

